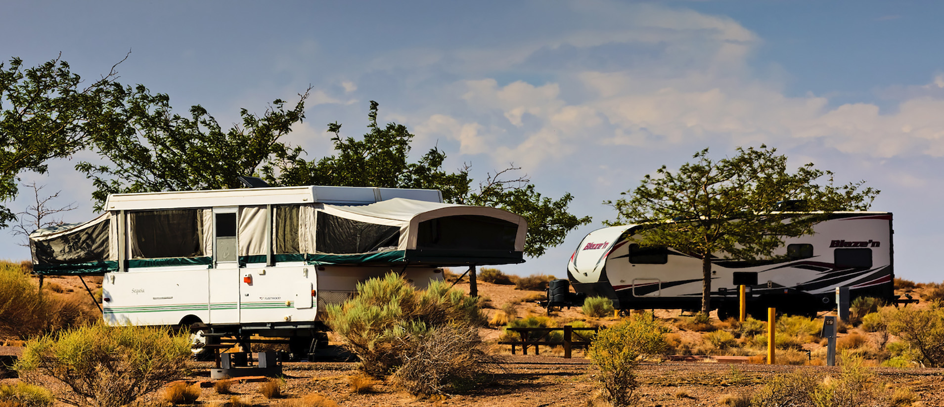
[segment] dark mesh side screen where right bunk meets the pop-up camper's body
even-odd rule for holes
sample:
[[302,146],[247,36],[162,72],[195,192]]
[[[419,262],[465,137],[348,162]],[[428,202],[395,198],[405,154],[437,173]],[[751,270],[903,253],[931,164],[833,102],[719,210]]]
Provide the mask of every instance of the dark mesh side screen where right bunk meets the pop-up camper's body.
[[359,220],[349,220],[318,212],[314,230],[316,252],[362,253],[398,246],[400,228]]

